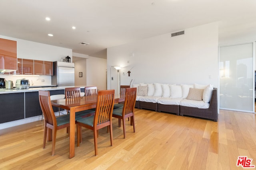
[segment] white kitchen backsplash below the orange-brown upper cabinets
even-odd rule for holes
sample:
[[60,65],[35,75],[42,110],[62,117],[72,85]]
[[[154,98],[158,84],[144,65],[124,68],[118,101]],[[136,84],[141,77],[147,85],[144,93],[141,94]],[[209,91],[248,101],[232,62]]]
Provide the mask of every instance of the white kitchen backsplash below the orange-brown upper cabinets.
[[5,80],[12,80],[13,86],[15,87],[15,83],[17,79],[27,79],[30,82],[30,86],[50,86],[52,85],[52,78],[51,76],[14,76],[14,75],[5,75],[0,74],[0,78],[5,78]]

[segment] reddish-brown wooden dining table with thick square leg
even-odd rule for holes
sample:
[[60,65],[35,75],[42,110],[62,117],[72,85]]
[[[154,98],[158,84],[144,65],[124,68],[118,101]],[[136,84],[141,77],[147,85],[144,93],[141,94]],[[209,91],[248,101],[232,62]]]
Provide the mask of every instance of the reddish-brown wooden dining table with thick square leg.
[[[123,102],[125,96],[115,96],[115,103]],[[96,108],[97,96],[82,96],[78,98],[66,98],[52,100],[52,106],[60,107],[70,111],[70,137],[69,137],[69,158],[75,156],[75,113],[87,109]],[[51,141],[51,131],[48,132],[48,141]]]

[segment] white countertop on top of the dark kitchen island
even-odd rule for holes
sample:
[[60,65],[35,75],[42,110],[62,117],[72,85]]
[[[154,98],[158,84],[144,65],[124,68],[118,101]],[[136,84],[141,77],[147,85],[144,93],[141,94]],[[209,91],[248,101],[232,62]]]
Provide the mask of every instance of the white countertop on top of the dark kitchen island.
[[8,93],[24,93],[24,92],[38,92],[38,90],[65,90],[68,87],[80,87],[84,88],[85,86],[60,86],[60,87],[37,87],[37,88],[29,88],[29,89],[0,89],[0,94],[8,94]]

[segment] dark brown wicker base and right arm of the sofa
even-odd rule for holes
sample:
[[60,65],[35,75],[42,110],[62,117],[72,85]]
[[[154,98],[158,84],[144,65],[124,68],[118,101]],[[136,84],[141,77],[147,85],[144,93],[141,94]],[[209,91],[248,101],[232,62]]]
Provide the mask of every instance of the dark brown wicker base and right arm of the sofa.
[[199,109],[197,107],[187,107],[179,105],[163,105],[150,102],[139,102],[139,105],[140,109],[151,109],[158,112],[164,111],[168,113],[175,113],[176,115],[181,116],[188,115],[218,121],[217,88],[214,88],[214,90],[212,91],[212,98],[210,100],[210,105],[208,109]]

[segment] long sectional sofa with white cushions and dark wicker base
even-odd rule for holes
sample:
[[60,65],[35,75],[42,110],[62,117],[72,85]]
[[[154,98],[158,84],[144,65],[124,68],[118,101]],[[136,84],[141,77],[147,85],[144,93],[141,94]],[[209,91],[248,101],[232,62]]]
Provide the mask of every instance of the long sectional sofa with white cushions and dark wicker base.
[[135,107],[218,121],[217,89],[202,84],[133,84]]

